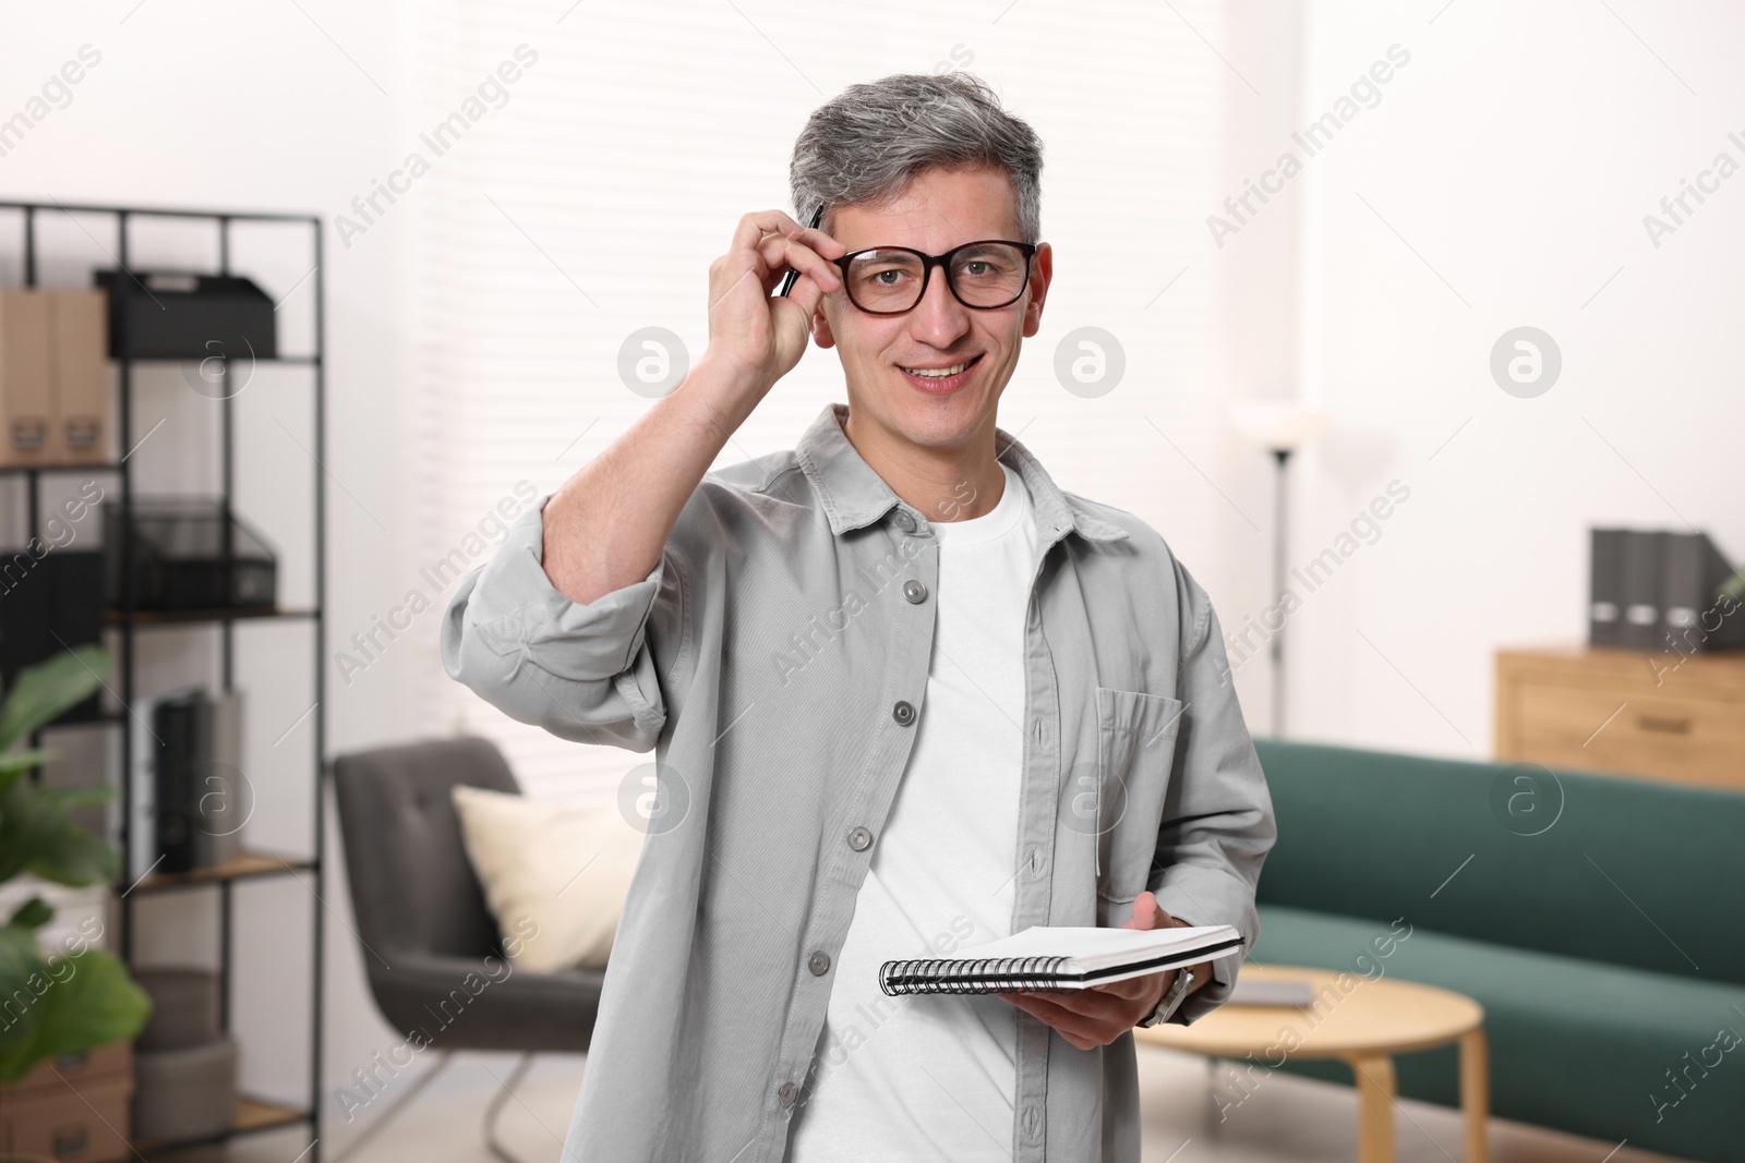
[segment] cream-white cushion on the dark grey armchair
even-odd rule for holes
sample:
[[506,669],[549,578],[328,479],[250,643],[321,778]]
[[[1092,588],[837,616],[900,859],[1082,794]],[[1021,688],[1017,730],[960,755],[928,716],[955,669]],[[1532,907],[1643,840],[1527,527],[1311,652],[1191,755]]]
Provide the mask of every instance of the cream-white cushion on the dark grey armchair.
[[473,874],[510,962],[534,973],[604,968],[642,853],[614,804],[565,804],[455,785]]

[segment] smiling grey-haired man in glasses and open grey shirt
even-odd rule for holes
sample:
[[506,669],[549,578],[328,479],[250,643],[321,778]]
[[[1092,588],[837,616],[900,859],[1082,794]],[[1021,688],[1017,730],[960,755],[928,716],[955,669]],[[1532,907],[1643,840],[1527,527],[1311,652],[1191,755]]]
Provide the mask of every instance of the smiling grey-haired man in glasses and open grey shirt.
[[[1235,982],[1274,823],[1218,619],[1152,528],[995,425],[1052,279],[1040,166],[961,73],[817,110],[790,183],[820,227],[740,220],[703,357],[448,605],[452,677],[656,748],[567,1158],[1136,1163],[1129,1030]],[[708,473],[808,333],[846,408]],[[1033,924],[1244,949],[1185,994],[878,989]]]

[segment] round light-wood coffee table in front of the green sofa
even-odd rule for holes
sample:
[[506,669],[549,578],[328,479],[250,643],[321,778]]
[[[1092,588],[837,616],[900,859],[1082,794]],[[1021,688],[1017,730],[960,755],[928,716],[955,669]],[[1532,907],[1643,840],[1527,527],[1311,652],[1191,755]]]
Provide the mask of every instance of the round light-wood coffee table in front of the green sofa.
[[[1316,990],[1312,1008],[1220,1006],[1194,1025],[1164,1022],[1134,1029],[1138,1043],[1192,1050],[1216,1058],[1277,1065],[1284,1058],[1338,1058],[1358,1083],[1358,1160],[1393,1163],[1396,1053],[1461,1044],[1461,1112],[1466,1119],[1466,1163],[1485,1163],[1485,1119],[1490,1114],[1490,1072],[1485,1053],[1485,1010],[1434,985],[1358,973],[1351,992],[1331,969],[1244,964],[1244,980],[1305,980]],[[1253,1058],[1249,1058],[1253,1055]]]

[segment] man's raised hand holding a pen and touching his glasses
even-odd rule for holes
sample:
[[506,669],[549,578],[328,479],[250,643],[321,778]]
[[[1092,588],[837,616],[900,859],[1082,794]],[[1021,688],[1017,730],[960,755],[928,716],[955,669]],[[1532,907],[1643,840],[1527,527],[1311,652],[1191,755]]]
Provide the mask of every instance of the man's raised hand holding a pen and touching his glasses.
[[[813,227],[803,227],[778,209],[740,218],[733,246],[708,265],[708,352],[703,359],[733,368],[757,396],[756,406],[777,380],[806,354],[811,316],[827,291],[843,286],[841,270],[831,263],[848,253],[841,242]],[[789,269],[799,279],[787,298],[777,298]]]

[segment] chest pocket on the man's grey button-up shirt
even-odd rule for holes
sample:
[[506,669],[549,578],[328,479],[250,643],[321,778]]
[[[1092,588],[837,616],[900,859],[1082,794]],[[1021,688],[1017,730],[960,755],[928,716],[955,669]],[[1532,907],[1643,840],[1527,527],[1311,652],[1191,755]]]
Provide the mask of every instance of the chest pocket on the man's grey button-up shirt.
[[1131,901],[1150,879],[1181,710],[1181,699],[1164,694],[1096,689],[1098,758],[1096,771],[1084,774],[1096,783],[1096,877],[1103,900]]

